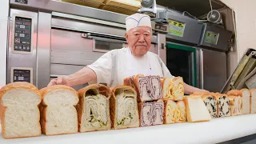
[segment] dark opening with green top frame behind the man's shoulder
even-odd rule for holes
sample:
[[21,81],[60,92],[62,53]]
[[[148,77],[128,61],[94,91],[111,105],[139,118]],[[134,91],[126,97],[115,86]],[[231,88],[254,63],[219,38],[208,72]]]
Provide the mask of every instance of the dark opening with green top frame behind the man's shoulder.
[[[194,52],[191,50],[183,49],[184,46],[179,45],[166,45],[166,66],[170,70],[170,74],[175,77],[182,77],[183,81],[190,86],[195,86],[194,77]],[[191,48],[194,49],[194,48]]]

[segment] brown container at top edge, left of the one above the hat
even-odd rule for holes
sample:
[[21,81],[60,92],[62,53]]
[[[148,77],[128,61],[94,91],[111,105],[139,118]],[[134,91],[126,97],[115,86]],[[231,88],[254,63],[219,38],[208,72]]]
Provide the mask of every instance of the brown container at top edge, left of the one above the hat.
[[62,0],[62,2],[70,2],[77,5],[99,8],[105,0]]

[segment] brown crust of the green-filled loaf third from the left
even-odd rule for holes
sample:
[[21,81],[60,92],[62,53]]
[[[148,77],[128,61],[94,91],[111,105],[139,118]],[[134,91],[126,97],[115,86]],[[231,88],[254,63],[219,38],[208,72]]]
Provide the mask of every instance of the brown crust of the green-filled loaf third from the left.
[[[85,98],[85,94],[87,90],[90,89],[100,89],[100,90],[106,90],[105,94],[102,94],[104,96],[106,96],[106,98],[108,100],[110,100],[110,88],[108,86],[102,85],[102,84],[93,84],[93,85],[89,85],[86,86],[80,90],[78,90],[78,98],[79,98],[79,102],[78,105],[75,106],[77,111],[78,111],[78,130],[79,132],[82,132],[81,130],[81,125],[82,125],[82,110],[83,110],[83,106],[84,106],[84,98]],[[111,119],[110,119],[110,123]],[[87,130],[87,131],[102,131],[102,130]]]

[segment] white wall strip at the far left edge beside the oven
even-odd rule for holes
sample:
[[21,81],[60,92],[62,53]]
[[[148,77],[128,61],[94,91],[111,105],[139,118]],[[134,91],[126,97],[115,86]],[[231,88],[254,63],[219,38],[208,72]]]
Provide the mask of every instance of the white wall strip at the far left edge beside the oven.
[[0,87],[6,85],[6,37],[9,0],[0,0]]

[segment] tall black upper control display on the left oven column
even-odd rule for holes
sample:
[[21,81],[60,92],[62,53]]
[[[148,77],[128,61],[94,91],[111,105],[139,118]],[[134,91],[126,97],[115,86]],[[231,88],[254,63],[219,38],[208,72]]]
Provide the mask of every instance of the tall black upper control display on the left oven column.
[[31,51],[32,19],[15,17],[14,50]]

